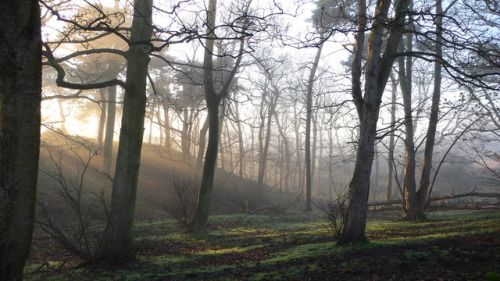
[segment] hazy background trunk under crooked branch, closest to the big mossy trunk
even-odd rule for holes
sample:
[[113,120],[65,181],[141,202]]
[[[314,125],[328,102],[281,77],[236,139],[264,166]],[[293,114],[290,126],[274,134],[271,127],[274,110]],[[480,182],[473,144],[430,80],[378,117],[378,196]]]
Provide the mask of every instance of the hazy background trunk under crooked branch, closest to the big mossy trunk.
[[113,158],[113,139],[116,118],[116,86],[108,88],[108,116],[106,120],[106,136],[104,137],[103,168],[109,171]]

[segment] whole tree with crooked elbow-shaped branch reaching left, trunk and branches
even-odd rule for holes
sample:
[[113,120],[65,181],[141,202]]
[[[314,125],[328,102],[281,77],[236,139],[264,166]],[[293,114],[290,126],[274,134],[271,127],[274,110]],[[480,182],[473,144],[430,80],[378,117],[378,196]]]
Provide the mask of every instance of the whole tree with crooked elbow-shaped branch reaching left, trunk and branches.
[[[57,71],[56,84],[70,89],[96,89],[120,85],[125,89],[123,100],[122,126],[116,160],[115,177],[111,196],[111,214],[109,224],[104,235],[104,248],[101,258],[111,263],[123,263],[133,260],[133,221],[137,179],[140,165],[140,155],[143,138],[143,127],[146,106],[146,78],[148,76],[149,54],[153,51],[151,36],[152,26],[152,0],[135,0],[134,15],[130,31],[126,35],[121,25],[125,22],[122,13],[107,14],[100,5],[90,5],[80,10],[73,19],[67,19],[59,11],[47,3],[42,4],[57,18],[68,23],[68,34],[77,33],[81,38],[69,41],[56,42],[59,44],[86,44],[99,40],[103,36],[116,35],[117,38],[127,42],[128,51],[112,48],[94,48],[77,51],[65,57],[56,59],[51,50],[51,43],[44,44],[46,64]],[[90,19],[88,19],[90,17]],[[114,23],[111,19],[119,19]],[[111,23],[110,23],[111,22]],[[130,34],[130,35],[129,35]],[[129,36],[130,37],[129,37]],[[164,45],[165,46],[165,45]],[[163,46],[163,47],[164,47]],[[161,47],[155,48],[161,51]],[[109,80],[75,83],[65,80],[66,70],[60,65],[62,62],[85,55],[109,53],[122,56],[126,59],[126,81],[114,77]]]

